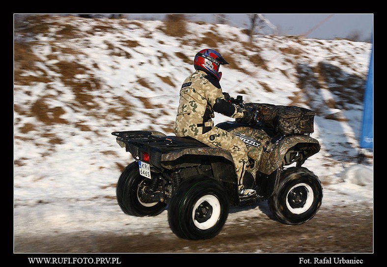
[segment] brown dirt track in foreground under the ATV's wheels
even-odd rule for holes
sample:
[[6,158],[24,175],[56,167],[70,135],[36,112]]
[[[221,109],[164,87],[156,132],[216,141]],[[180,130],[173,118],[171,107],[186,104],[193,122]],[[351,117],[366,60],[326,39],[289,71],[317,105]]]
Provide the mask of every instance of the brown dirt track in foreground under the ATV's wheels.
[[[161,229],[151,233],[80,232],[15,237],[16,253],[373,253],[373,209],[331,207],[303,225],[270,214],[228,219],[210,240],[189,241]],[[237,214],[238,210],[235,210]],[[266,216],[267,215],[267,216]]]

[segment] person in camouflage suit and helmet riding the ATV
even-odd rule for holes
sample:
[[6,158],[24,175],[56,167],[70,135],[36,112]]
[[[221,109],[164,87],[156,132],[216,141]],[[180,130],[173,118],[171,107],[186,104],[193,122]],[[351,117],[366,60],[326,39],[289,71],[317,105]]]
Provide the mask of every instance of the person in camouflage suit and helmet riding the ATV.
[[194,58],[195,72],[188,76],[180,89],[179,107],[173,130],[176,136],[190,136],[210,146],[230,151],[235,164],[238,191],[242,196],[255,193],[244,189],[243,176],[248,163],[247,147],[238,137],[214,126],[214,111],[238,122],[251,123],[251,112],[228,102],[228,93],[223,93],[220,65],[228,64],[214,49],[200,50]]

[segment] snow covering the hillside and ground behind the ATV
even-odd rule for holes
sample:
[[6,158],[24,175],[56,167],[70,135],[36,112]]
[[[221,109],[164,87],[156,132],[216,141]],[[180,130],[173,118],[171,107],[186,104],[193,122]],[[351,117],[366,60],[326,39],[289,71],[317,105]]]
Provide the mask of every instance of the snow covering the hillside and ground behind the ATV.
[[[48,20],[49,18],[45,18]],[[202,47],[182,38],[168,36],[159,30],[160,21],[90,20],[75,17],[52,17],[53,27],[45,34],[33,36],[33,53],[40,61],[30,62],[20,77],[48,77],[30,84],[18,82],[15,76],[14,104],[14,235],[52,235],[76,231],[114,232],[127,235],[152,231],[169,233],[167,211],[151,218],[125,215],[115,200],[115,184],[119,165],[132,162],[132,157],[115,142],[113,131],[153,129],[169,131],[174,121],[181,82],[193,71],[189,59]],[[77,20],[77,23],[73,23]],[[95,30],[107,21],[113,30]],[[42,19],[43,23],[43,19]],[[77,36],[59,37],[63,27],[78,25]],[[141,26],[139,26],[141,25]],[[231,41],[219,44],[223,56],[232,57],[245,48],[247,41],[241,29],[224,25],[190,23],[190,36],[201,36],[215,29]],[[94,29],[94,34],[90,33]],[[195,35],[194,32],[197,32]],[[189,38],[186,36],[185,38]],[[137,41],[136,47],[125,44]],[[338,66],[347,75],[365,80],[371,46],[348,40],[315,40],[261,36],[255,42],[267,69],[253,65],[248,58],[241,66],[253,75],[222,66],[221,85],[232,96],[242,94],[247,102],[291,105],[291,97],[301,95],[300,106],[319,109],[312,137],[321,143],[321,151],[306,160],[304,167],[313,171],[324,185],[321,210],[351,203],[373,204],[373,151],[358,164],[362,103],[345,103],[343,107],[328,107],[325,103],[336,96],[325,85],[320,91],[310,91],[308,97],[300,91],[294,65],[314,68],[319,62]],[[51,46],[55,44],[55,50]],[[112,47],[112,48],[111,48]],[[301,51],[284,54],[283,49]],[[62,49],[62,50],[60,50]],[[73,54],[67,54],[73,50]],[[125,56],[125,52],[130,56]],[[255,55],[249,51],[247,55]],[[83,65],[73,77],[73,83],[90,82],[89,96],[93,100],[85,107],[77,104],[77,91],[62,79],[58,62],[71,61]],[[346,64],[342,64],[346,61]],[[286,73],[286,75],[284,74]],[[161,77],[168,77],[170,83]],[[143,79],[146,85],[138,81]],[[261,83],[272,90],[265,90]],[[241,93],[242,92],[242,93]],[[142,98],[141,98],[142,97]],[[312,98],[310,98],[312,97]],[[55,118],[54,111],[66,123],[46,124],[30,115],[37,100],[44,99],[46,115]],[[146,100],[146,101],[145,101]],[[122,102],[121,102],[122,101]],[[145,103],[148,102],[147,106]],[[126,106],[123,106],[126,105]],[[313,105],[313,106],[312,106]],[[129,112],[122,118],[112,109]],[[337,114],[343,120],[326,119]],[[217,115],[215,122],[229,120]],[[25,126],[32,124],[28,131]],[[83,129],[87,127],[87,129]],[[56,138],[60,142],[54,142]],[[371,158],[371,159],[369,159]],[[228,220],[256,212],[230,213]]]

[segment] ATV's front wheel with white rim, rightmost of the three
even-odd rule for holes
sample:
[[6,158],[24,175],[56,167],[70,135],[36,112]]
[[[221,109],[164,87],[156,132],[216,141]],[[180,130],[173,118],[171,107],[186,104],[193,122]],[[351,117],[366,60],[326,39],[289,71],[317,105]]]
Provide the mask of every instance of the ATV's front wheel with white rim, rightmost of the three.
[[304,167],[284,170],[269,207],[276,219],[284,224],[303,224],[317,213],[323,199],[323,187],[318,177]]

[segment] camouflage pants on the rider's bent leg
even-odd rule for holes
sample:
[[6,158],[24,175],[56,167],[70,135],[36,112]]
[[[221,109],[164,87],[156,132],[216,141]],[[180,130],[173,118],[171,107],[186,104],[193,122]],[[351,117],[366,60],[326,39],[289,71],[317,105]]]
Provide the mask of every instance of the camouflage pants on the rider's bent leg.
[[201,135],[192,136],[196,140],[214,148],[223,148],[231,153],[234,160],[235,171],[238,178],[238,185],[243,184],[243,176],[245,174],[246,164],[248,163],[247,147],[237,136],[222,130],[218,127],[213,127],[210,131]]

